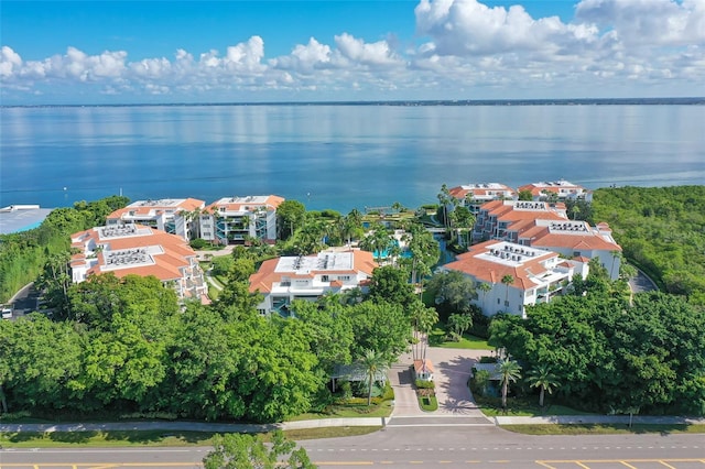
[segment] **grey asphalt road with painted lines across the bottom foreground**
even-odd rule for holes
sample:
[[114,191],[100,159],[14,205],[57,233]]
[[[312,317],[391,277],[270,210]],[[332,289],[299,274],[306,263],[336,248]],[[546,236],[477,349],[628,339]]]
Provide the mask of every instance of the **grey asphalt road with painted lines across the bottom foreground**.
[[[705,468],[703,435],[528,436],[489,426],[419,426],[302,441],[321,468]],[[0,468],[198,468],[208,448],[4,449]]]

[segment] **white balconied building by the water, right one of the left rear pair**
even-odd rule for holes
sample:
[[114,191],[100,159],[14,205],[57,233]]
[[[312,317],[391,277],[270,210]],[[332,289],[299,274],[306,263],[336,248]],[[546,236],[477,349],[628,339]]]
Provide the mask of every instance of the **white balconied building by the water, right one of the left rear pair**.
[[199,237],[220,244],[243,244],[248,237],[276,241],[276,207],[284,198],[269,196],[224,197],[198,217]]

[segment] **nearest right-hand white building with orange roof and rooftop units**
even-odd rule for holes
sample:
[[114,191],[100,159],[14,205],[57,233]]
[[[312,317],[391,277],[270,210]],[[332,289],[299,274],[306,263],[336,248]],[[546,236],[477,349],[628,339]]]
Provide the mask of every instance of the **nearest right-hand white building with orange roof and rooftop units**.
[[471,246],[469,251],[443,265],[469,276],[478,297],[473,303],[486,316],[508,313],[527,316],[525,306],[549,303],[564,293],[575,274],[587,276],[587,259],[565,260],[555,252],[507,241],[486,241]]

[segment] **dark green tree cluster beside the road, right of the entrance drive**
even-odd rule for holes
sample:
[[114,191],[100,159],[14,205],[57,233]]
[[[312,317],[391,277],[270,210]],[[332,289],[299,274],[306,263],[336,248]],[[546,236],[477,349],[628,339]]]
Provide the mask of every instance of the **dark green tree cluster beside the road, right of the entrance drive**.
[[652,292],[630,303],[595,287],[530,307],[525,320],[496,317],[490,343],[575,407],[703,415],[703,330],[705,312],[682,297]]

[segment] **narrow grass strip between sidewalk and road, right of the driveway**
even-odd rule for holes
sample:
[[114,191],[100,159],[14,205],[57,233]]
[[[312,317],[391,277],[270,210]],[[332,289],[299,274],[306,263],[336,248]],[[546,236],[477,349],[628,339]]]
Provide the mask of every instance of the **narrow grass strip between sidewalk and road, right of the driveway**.
[[705,425],[502,425],[502,428],[524,435],[633,435],[644,433],[705,433]]

